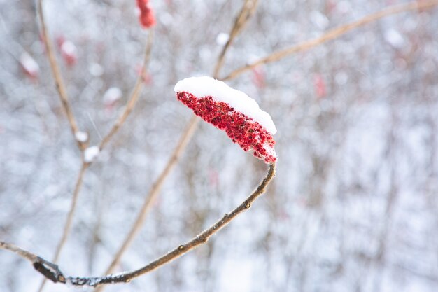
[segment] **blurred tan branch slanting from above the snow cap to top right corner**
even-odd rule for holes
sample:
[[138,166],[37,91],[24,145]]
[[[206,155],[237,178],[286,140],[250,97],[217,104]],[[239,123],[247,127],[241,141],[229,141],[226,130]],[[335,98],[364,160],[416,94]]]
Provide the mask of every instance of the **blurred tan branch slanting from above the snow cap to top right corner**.
[[394,15],[394,14],[402,13],[405,11],[414,11],[417,9],[418,10],[428,9],[428,8],[432,8],[432,7],[437,6],[437,5],[438,5],[438,1],[432,0],[432,1],[412,1],[408,4],[390,6],[386,9],[383,9],[383,10],[378,11],[376,13],[372,13],[370,15],[367,15],[367,16],[365,16],[365,18],[361,18],[360,20],[356,20],[355,22],[351,22],[351,23],[348,23],[347,25],[342,25],[341,27],[337,27],[335,29],[332,29],[329,32],[323,34],[323,36],[319,36],[316,39],[304,41],[302,43],[297,44],[296,46],[292,46],[290,48],[285,48],[283,50],[278,50],[274,53],[271,53],[267,57],[263,57],[260,60],[257,60],[251,64],[248,64],[244,67],[241,67],[239,69],[232,71],[230,74],[228,74],[228,76],[226,76],[225,78],[222,78],[222,80],[229,80],[232,78],[236,78],[236,76],[239,76],[243,72],[248,71],[250,69],[253,69],[254,67],[257,67],[261,64],[276,62],[278,60],[283,59],[284,57],[287,57],[288,55],[292,55],[293,53],[298,53],[298,52],[302,52],[304,50],[309,50],[310,48],[318,46],[318,45],[325,43],[327,41],[331,41],[332,39],[337,39],[339,36],[346,34],[347,32],[350,32],[353,29],[357,29],[358,27],[362,27],[362,26],[367,25],[371,22],[374,22],[376,20],[384,18],[388,15]]

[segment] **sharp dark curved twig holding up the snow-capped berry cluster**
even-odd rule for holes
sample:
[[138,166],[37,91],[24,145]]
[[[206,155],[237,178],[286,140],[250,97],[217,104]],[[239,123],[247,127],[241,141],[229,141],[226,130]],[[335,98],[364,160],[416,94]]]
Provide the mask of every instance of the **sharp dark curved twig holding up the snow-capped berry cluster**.
[[197,235],[197,237],[191,239],[189,242],[179,245],[173,251],[170,251],[164,256],[157,258],[157,260],[153,260],[153,262],[144,267],[141,267],[139,270],[134,270],[133,272],[108,274],[103,277],[69,277],[64,275],[64,273],[59,270],[59,267],[55,265],[55,263],[50,263],[47,260],[36,256],[34,253],[24,251],[23,249],[20,249],[13,244],[8,244],[6,242],[0,241],[0,248],[7,249],[8,251],[13,251],[14,253],[17,253],[17,255],[22,256],[22,258],[26,258],[34,265],[34,268],[38,270],[38,272],[41,272],[41,274],[43,274],[47,279],[50,279],[55,283],[71,284],[74,286],[99,286],[104,284],[115,284],[123,282],[126,283],[136,277],[141,276],[142,274],[146,274],[148,272],[156,270],[166,263],[169,263],[171,260],[179,258],[185,253],[188,253],[188,251],[195,249],[197,246],[208,242],[211,236],[213,236],[220,229],[224,228],[243,211],[249,209],[251,207],[251,204],[253,204],[257,197],[260,197],[260,195],[265,192],[267,186],[275,176],[275,169],[275,164],[269,165],[269,171],[267,172],[267,175],[261,181],[260,185],[257,186],[257,188],[253,191],[253,193],[229,214],[225,214],[225,216],[223,216],[219,221],[211,225],[210,228],[204,230],[202,233]]

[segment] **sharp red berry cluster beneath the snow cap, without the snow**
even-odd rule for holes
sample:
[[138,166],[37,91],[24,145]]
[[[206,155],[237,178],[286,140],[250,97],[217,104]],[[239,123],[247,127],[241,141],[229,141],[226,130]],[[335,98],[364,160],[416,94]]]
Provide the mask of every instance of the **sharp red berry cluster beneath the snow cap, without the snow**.
[[213,97],[197,98],[189,92],[177,92],[176,97],[208,123],[225,130],[229,138],[244,151],[254,151],[254,156],[266,163],[276,162],[275,141],[262,125],[253,118],[235,111],[226,102],[216,102]]

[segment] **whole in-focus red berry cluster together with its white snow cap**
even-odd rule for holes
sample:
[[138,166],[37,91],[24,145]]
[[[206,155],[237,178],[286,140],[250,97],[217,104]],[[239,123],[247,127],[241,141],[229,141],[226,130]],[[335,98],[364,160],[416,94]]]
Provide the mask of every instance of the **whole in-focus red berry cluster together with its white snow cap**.
[[222,81],[202,76],[175,85],[176,97],[208,123],[224,130],[244,151],[266,163],[276,162],[274,122],[254,99]]

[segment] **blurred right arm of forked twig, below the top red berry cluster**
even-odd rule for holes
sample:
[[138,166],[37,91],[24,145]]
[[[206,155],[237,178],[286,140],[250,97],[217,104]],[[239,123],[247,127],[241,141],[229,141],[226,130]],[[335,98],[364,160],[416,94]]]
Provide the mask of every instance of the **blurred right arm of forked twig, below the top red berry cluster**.
[[136,83],[134,85],[134,89],[132,90],[131,97],[129,97],[129,101],[127,102],[125,106],[125,110],[120,114],[119,118],[115,121],[113,127],[111,127],[111,130],[106,134],[104,139],[99,144],[99,149],[102,150],[108,144],[108,141],[113,137],[113,135],[118,132],[120,127],[125,123],[125,120],[129,116],[129,113],[131,113],[132,109],[134,109],[134,106],[137,102],[137,99],[139,99],[139,95],[141,92],[141,88],[143,86],[143,78],[146,74],[146,67],[148,67],[149,59],[150,59],[150,50],[152,48],[153,43],[153,30],[149,31],[148,34],[148,42],[146,43],[146,49],[145,49],[145,55],[143,64],[141,67],[141,72],[139,74],[139,77],[136,80]]

